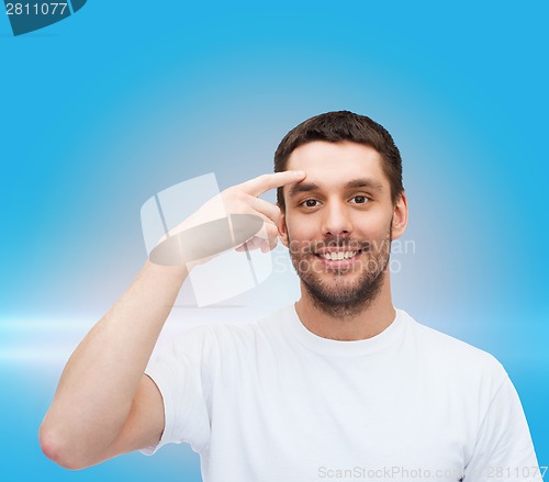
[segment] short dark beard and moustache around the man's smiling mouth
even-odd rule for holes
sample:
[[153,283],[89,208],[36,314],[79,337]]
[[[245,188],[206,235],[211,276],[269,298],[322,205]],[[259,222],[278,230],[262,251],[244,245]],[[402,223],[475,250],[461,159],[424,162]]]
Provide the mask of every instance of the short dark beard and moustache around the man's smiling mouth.
[[[302,243],[300,247],[299,243],[298,246],[295,242],[292,244],[290,236],[288,240],[295,272],[313,304],[322,312],[337,317],[356,316],[379,296],[391,255],[392,223],[381,243],[330,236],[317,243]],[[348,269],[327,268],[321,265],[316,255],[317,249],[325,247],[360,249],[360,259]],[[322,268],[315,269],[320,265]],[[357,271],[358,276],[352,276]]]

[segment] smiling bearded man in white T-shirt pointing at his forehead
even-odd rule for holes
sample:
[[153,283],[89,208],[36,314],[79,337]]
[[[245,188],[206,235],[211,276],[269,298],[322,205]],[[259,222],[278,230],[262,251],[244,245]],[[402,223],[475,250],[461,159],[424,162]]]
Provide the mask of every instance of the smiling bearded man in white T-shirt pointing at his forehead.
[[[390,134],[322,114],[282,139],[274,170],[222,198],[265,220],[246,248],[290,249],[301,299],[194,328],[146,369],[190,269],[148,261],[67,363],[44,452],[80,469],[186,441],[210,482],[540,480],[502,366],[393,307],[390,244],[407,202]],[[258,198],[276,188],[277,205]]]

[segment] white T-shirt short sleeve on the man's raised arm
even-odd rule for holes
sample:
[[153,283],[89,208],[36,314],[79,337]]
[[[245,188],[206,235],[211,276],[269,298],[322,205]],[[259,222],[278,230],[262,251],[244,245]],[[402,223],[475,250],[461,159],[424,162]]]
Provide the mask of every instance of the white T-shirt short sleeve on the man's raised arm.
[[206,326],[183,333],[149,362],[145,373],[164,401],[165,428],[159,442],[139,450],[152,456],[166,444],[188,442],[201,452],[210,441],[213,334]]

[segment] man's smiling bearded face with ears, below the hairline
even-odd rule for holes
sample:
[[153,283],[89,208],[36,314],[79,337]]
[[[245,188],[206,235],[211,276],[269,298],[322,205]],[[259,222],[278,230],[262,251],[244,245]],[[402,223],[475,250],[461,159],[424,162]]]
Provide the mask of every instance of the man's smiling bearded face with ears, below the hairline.
[[284,188],[279,231],[302,285],[332,314],[356,314],[379,293],[392,237],[405,227],[405,198],[393,206],[373,148],[314,142],[298,147],[288,169],[306,172]]

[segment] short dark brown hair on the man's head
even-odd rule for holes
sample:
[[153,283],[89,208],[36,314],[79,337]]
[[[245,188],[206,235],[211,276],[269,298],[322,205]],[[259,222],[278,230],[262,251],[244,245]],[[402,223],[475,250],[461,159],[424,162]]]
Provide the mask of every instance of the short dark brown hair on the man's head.
[[[290,155],[299,146],[314,141],[341,143],[345,141],[373,147],[383,159],[383,172],[391,186],[391,200],[396,202],[404,191],[402,186],[402,159],[391,134],[380,124],[366,115],[349,111],[326,112],[307,119],[292,128],[280,142],[274,153],[274,172],[287,170]],[[277,201],[285,210],[282,188],[277,189]]]

